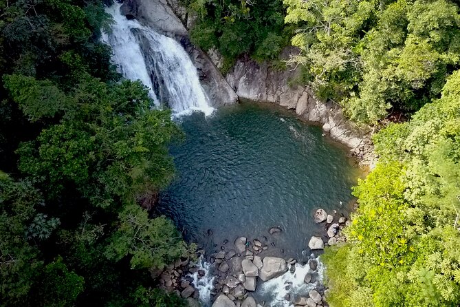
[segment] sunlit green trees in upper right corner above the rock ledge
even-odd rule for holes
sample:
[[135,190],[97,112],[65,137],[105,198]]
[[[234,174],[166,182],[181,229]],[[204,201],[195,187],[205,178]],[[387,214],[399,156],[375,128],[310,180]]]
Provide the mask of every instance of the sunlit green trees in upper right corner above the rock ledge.
[[375,123],[392,107],[413,112],[438,98],[459,67],[457,3],[285,0],[286,23],[298,26],[309,86],[340,102],[351,119]]

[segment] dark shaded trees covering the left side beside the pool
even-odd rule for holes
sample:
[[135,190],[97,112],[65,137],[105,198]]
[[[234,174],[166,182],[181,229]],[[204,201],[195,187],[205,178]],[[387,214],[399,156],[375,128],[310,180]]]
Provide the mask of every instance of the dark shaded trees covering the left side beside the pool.
[[98,1],[0,1],[0,305],[185,306],[149,268],[188,253],[138,200],[182,133],[99,43]]

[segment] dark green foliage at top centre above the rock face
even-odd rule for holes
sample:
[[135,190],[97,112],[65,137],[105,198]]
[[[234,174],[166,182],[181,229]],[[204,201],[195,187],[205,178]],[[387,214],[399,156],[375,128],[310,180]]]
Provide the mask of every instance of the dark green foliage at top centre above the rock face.
[[217,48],[228,70],[241,54],[257,61],[273,60],[289,44],[282,1],[186,1],[198,15],[190,32],[193,43],[204,50]]

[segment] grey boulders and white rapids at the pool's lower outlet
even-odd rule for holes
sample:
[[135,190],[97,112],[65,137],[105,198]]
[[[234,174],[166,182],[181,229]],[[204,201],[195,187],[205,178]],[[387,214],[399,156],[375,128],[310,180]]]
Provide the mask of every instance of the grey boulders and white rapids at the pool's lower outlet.
[[345,241],[341,231],[349,221],[337,211],[328,214],[323,209],[314,219],[324,227],[309,240],[307,260],[274,257],[278,251],[273,238],[283,229],[272,227],[260,239],[238,237],[233,243],[221,242],[216,253],[198,251],[200,262],[177,260],[159,275],[160,287],[184,297],[190,306],[199,306],[201,299],[212,307],[261,307],[275,305],[259,299],[257,289],[276,281],[277,288],[270,291],[282,292],[281,306],[328,306],[317,255],[325,246]]

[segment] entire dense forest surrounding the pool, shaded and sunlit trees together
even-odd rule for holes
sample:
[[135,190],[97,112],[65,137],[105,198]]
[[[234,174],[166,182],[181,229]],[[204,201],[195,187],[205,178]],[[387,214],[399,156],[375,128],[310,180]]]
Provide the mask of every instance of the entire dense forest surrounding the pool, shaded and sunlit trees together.
[[[195,246],[146,210],[183,134],[111,65],[105,4],[0,0],[1,306],[186,306],[151,273]],[[459,2],[184,5],[190,39],[219,50],[223,72],[292,45],[296,82],[378,131],[348,242],[323,257],[329,304],[459,306]],[[388,124],[393,112],[408,120]]]

